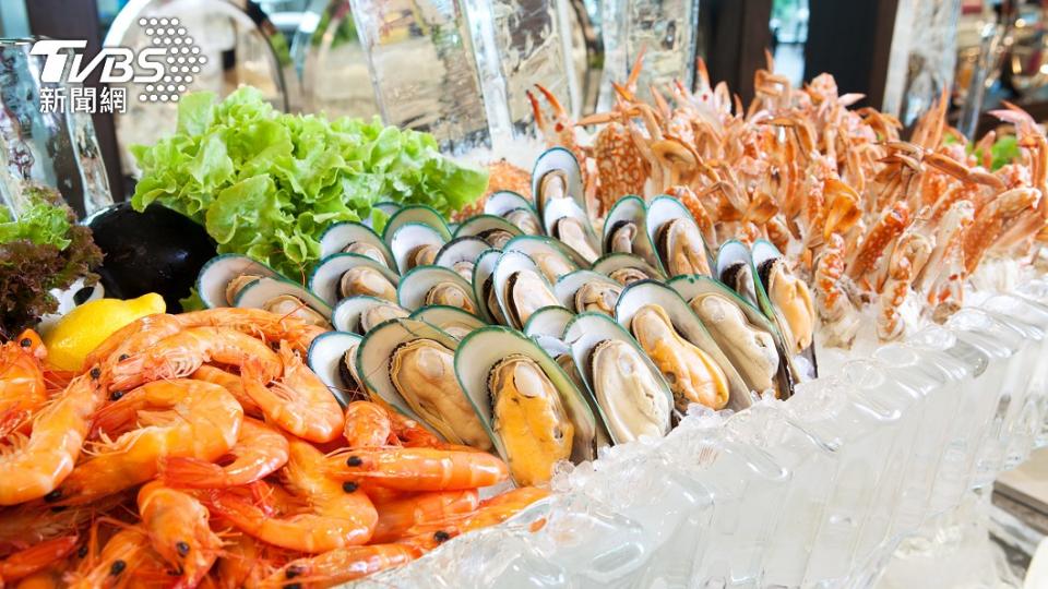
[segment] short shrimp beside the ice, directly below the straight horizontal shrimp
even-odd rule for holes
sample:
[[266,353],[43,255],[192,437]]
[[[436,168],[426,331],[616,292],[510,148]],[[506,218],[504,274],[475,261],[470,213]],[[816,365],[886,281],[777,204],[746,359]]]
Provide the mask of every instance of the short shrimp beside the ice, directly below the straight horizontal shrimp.
[[392,542],[415,526],[445,521],[477,510],[476,491],[434,491],[383,504],[371,542]]

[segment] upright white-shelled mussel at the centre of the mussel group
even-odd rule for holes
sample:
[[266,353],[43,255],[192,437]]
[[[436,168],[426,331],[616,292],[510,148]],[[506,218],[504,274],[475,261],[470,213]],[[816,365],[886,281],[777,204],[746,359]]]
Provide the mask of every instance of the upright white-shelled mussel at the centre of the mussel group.
[[521,252],[504,252],[499,257],[492,287],[502,315],[517,329],[524,327],[535,311],[560,304],[535,262]]

